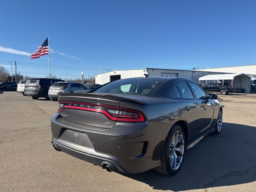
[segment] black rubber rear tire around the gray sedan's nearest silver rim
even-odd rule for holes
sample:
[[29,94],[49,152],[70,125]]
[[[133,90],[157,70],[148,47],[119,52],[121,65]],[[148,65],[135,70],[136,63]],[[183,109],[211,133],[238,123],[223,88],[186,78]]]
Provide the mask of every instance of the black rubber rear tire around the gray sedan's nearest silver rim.
[[[176,170],[174,170],[171,165],[170,165],[170,158],[169,158],[169,153],[170,153],[170,143],[171,143],[171,140],[172,140],[172,136],[174,136],[174,133],[176,133],[177,131],[179,131],[182,136],[183,136],[183,145],[184,145],[184,148],[183,148],[183,156],[182,156],[182,160],[181,160],[181,163],[180,165],[178,166],[178,168]],[[168,136],[166,138],[166,142],[165,142],[165,145],[163,147],[163,151],[162,151],[162,165],[160,167],[157,167],[156,168],[156,171],[160,174],[164,174],[164,175],[168,175],[168,176],[171,176],[171,175],[175,175],[179,172],[181,166],[182,166],[182,163],[184,161],[184,154],[185,154],[185,146],[186,146],[186,140],[185,140],[185,134],[182,130],[182,127],[177,125],[177,124],[174,124],[174,126],[172,127],[172,129],[170,130],[170,132],[168,133]],[[174,148],[174,151],[175,151],[175,148]]]

